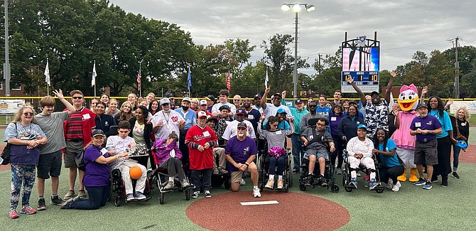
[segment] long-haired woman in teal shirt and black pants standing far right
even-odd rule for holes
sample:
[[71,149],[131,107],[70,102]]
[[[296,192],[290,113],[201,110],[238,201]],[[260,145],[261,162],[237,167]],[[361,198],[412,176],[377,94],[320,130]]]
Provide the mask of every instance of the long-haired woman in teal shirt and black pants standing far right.
[[453,138],[453,125],[451,125],[450,116],[445,111],[443,101],[440,97],[430,97],[427,103],[431,110],[428,114],[436,117],[441,124],[441,134],[436,135],[438,141],[438,164],[433,166],[433,177],[431,182],[438,181],[438,175],[441,175],[441,187],[448,186],[448,174],[451,171],[451,147],[456,144]]

